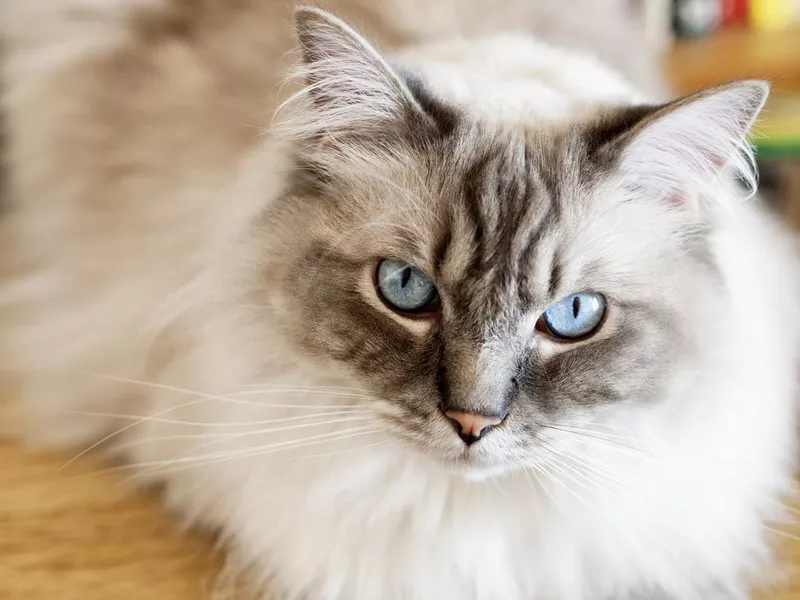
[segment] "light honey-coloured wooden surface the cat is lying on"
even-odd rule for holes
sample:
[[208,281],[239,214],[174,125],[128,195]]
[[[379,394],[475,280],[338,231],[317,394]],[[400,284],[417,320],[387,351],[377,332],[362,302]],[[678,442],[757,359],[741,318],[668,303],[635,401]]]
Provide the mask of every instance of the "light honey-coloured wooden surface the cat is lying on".
[[[181,533],[153,495],[125,493],[118,473],[64,463],[0,444],[0,599],[211,596],[221,561],[210,540]],[[800,543],[784,554],[796,571]],[[789,599],[800,600],[800,576],[759,600]]]

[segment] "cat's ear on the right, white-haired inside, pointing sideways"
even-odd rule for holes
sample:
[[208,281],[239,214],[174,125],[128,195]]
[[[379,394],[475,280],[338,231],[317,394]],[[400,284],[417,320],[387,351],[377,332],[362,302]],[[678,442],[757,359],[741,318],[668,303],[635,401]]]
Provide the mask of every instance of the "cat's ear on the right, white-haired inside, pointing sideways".
[[680,205],[694,205],[726,173],[754,188],[747,136],[768,95],[767,83],[742,81],[639,110],[611,142],[626,185]]

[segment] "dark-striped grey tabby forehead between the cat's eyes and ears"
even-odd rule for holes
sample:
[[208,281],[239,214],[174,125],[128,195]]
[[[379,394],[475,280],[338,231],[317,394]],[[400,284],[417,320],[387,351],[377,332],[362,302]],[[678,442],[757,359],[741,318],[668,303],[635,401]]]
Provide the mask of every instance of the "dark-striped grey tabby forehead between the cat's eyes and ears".
[[558,287],[555,242],[570,165],[524,132],[474,145],[445,208],[438,279],[465,310],[524,311]]

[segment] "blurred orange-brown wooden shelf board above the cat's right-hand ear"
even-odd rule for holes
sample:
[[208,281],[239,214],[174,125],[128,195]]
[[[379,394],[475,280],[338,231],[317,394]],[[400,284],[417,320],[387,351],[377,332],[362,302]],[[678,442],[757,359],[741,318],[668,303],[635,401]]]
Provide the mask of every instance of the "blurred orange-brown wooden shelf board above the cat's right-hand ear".
[[800,28],[732,29],[681,40],[666,53],[669,77],[679,92],[732,79],[767,79],[778,92],[800,91]]

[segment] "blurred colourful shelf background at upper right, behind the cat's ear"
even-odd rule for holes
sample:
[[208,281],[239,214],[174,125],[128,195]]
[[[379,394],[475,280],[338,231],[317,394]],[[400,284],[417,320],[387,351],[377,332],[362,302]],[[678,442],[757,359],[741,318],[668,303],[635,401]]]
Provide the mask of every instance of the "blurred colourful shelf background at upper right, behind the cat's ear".
[[753,139],[761,190],[800,229],[800,0],[632,0],[631,10],[676,91],[772,83]]

